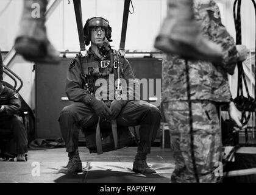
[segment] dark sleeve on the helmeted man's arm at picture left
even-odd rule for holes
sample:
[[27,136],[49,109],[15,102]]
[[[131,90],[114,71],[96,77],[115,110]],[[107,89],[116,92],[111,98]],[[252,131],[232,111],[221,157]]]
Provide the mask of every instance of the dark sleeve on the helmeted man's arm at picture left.
[[92,95],[82,88],[83,82],[80,74],[80,65],[76,60],[73,60],[69,66],[66,78],[66,95],[70,101],[88,104]]

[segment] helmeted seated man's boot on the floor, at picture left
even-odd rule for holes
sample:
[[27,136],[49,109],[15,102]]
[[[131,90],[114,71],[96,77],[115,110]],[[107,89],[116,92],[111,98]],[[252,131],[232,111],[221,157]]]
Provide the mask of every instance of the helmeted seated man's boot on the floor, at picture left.
[[59,169],[59,172],[68,174],[68,173],[74,173],[74,172],[82,172],[82,161],[79,157],[79,152],[68,152],[68,165],[65,167]]

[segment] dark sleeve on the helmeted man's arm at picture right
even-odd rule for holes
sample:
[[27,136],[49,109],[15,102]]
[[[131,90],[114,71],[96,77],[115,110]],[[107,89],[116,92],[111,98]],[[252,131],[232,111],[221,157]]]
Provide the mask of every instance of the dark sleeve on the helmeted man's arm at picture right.
[[123,72],[127,83],[127,100],[140,99],[140,82],[135,78],[132,66],[127,59],[124,59]]

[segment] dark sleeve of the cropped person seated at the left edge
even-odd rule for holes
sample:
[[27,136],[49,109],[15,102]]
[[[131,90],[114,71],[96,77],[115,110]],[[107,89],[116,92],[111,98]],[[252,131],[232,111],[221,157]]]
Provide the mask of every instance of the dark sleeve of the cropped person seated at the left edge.
[[4,105],[4,111],[6,115],[13,116],[20,112],[21,101],[18,94],[15,91],[11,91],[7,98],[9,99],[9,105]]

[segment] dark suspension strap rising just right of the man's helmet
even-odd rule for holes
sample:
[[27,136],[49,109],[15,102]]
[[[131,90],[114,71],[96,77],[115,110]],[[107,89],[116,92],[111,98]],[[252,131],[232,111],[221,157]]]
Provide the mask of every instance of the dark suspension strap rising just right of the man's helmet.
[[122,32],[121,32],[121,41],[119,45],[119,53],[124,56],[125,54],[125,44],[126,44],[126,30],[129,16],[129,8],[130,8],[131,0],[124,0],[124,13],[123,13],[123,24],[122,24]]

